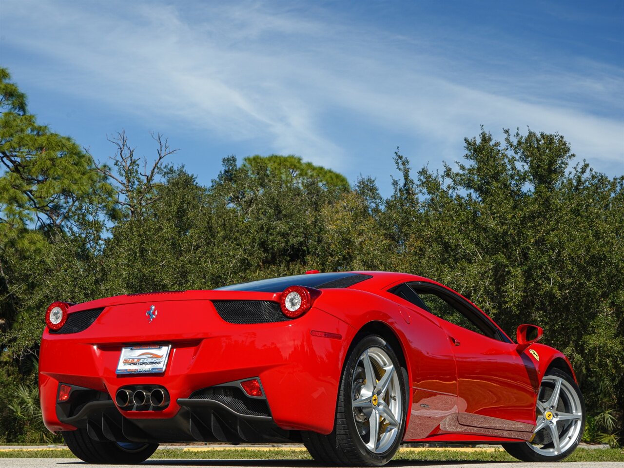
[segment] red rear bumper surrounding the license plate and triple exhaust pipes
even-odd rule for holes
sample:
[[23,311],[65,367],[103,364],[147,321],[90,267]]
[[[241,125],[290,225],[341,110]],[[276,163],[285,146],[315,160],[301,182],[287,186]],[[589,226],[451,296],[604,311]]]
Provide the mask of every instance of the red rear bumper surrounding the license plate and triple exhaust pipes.
[[[139,438],[147,435],[162,441],[222,440],[219,431],[228,441],[236,441],[236,437],[255,441],[254,432],[260,434],[258,441],[267,440],[263,434],[271,440],[286,439],[289,430],[331,432],[353,328],[316,308],[292,321],[265,324],[232,324],[216,314],[208,315],[210,318],[195,323],[192,331],[163,331],[159,335],[163,339],[156,339],[154,333],[148,337],[137,333],[134,338],[127,338],[128,333],[109,333],[103,338],[95,326],[66,335],[45,331],[39,387],[46,427],[56,432],[89,426],[96,437],[114,434],[134,440],[132,434],[136,433]],[[341,339],[313,336],[311,331],[338,334]],[[155,342],[172,344],[165,373],[115,373],[123,346]],[[268,416],[241,414],[214,401],[189,399],[199,389],[255,377],[263,386]],[[99,400],[89,402],[91,397],[84,396],[85,401],[77,401],[71,411],[61,411],[62,405],[57,404],[61,383],[100,392]],[[114,402],[115,393],[135,385],[166,388],[170,403],[161,411],[120,409]],[[112,428],[109,432],[107,425]],[[124,435],[124,427],[128,434]]]

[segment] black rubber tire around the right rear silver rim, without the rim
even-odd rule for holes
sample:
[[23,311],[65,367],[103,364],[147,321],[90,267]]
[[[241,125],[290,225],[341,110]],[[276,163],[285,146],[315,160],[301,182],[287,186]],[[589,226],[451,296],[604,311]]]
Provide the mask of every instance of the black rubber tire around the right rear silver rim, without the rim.
[[[381,348],[392,361],[402,396],[401,419],[396,429],[394,442],[385,451],[376,453],[366,447],[358,433],[354,410],[351,406],[354,372],[359,357],[369,348]],[[401,368],[399,359],[391,346],[381,336],[370,335],[362,338],[351,350],[344,363],[343,374],[338,389],[334,430],[327,436],[316,432],[303,432],[303,443],[315,461],[328,466],[384,466],[399,449],[405,432],[405,421],[409,398],[406,391],[406,371]],[[381,401],[381,400],[380,400]],[[381,402],[379,403],[381,405]]]

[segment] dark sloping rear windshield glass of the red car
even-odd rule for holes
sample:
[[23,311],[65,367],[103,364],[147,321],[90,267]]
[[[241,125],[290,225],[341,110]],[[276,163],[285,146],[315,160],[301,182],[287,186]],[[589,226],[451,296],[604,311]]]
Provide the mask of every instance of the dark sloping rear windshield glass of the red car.
[[268,280],[250,281],[237,285],[223,286],[215,291],[261,291],[264,293],[279,293],[288,286],[308,286],[310,288],[348,288],[360,281],[373,278],[361,273],[312,273],[310,275],[282,276]]

